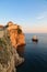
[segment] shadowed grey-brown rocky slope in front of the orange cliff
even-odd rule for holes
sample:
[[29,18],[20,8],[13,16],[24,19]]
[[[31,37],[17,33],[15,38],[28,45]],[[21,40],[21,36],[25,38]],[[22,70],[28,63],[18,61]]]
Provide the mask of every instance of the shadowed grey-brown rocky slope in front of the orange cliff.
[[0,37],[0,72],[16,72],[15,66],[24,62],[24,58],[21,58],[12,47],[9,35],[10,31],[5,29]]

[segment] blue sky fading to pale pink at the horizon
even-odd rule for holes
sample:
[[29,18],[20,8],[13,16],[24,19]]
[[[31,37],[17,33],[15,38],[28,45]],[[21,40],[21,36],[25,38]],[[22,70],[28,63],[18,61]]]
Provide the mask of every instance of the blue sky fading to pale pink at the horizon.
[[47,33],[47,0],[0,0],[0,24],[9,21],[25,33]]

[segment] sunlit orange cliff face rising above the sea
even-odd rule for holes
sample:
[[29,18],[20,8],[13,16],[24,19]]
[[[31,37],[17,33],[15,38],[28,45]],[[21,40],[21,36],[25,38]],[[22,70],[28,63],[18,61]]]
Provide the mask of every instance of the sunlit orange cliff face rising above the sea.
[[14,24],[13,22],[8,22],[7,29],[10,33],[9,37],[14,48],[16,48],[17,45],[25,44],[25,35],[22,32],[22,29],[20,25]]

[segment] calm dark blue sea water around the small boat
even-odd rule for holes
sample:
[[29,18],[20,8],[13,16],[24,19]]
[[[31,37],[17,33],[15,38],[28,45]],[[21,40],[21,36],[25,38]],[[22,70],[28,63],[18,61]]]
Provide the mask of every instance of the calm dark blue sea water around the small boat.
[[47,33],[37,34],[38,42],[32,42],[33,34],[25,34],[26,45],[17,49],[25,62],[17,72],[47,72]]

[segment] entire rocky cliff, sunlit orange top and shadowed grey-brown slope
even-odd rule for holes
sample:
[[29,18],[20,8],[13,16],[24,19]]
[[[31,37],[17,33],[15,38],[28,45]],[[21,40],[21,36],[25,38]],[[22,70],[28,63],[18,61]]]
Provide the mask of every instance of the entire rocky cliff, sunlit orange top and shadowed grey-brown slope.
[[[17,65],[24,62],[24,58],[16,52],[16,45],[24,44],[24,34],[19,25],[9,22],[0,31],[0,72],[16,72]],[[22,39],[23,38],[23,39]],[[22,40],[22,41],[21,41]]]

